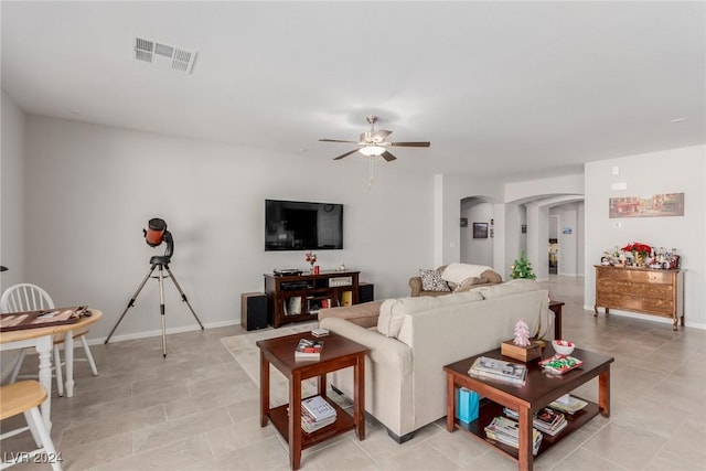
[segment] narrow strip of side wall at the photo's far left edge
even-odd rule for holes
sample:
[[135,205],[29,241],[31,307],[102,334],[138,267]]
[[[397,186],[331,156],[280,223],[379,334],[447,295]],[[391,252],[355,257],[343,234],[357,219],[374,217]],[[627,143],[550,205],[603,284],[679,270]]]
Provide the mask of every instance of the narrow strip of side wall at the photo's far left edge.
[[2,90],[0,153],[0,292],[24,277],[24,111]]

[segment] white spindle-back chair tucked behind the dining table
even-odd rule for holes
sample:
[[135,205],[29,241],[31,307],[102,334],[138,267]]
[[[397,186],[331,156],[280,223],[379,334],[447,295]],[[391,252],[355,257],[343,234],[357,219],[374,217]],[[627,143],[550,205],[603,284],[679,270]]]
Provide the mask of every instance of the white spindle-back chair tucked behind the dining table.
[[[11,286],[2,293],[2,297],[0,298],[0,311],[3,313],[36,311],[40,309],[54,309],[55,307],[56,306],[54,306],[54,301],[49,296],[49,293],[43,288],[32,283],[19,283]],[[88,329],[84,329],[81,331],[67,332],[66,335],[71,335],[73,339],[81,339],[81,344],[84,347],[85,357],[74,360],[88,362],[93,375],[98,376],[98,370],[96,368],[96,363],[94,362],[93,355],[90,354],[88,341],[86,340],[87,333]],[[64,378],[62,374],[62,365],[64,365],[64,363],[62,362],[58,346],[65,342],[65,335],[54,336],[54,371],[56,376],[56,390],[58,392],[60,396],[64,395]],[[10,383],[14,383],[18,377],[24,377],[19,376],[19,373],[26,352],[28,349],[23,349],[20,351],[18,360],[14,363],[14,367],[12,368],[12,374],[10,375]]]

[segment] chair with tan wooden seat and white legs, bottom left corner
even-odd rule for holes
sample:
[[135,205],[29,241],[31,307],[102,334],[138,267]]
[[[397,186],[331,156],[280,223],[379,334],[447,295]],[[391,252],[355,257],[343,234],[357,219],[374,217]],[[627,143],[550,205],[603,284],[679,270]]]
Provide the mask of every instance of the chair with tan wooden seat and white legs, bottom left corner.
[[14,464],[32,461],[32,457],[44,453],[46,462],[51,463],[52,470],[61,471],[61,456],[56,452],[52,436],[46,429],[46,424],[42,418],[39,406],[46,400],[46,389],[35,381],[21,381],[0,387],[0,420],[24,414],[26,427],[13,430],[3,430],[0,440],[4,440],[23,431],[30,430],[38,448],[29,452],[3,452],[0,470]]

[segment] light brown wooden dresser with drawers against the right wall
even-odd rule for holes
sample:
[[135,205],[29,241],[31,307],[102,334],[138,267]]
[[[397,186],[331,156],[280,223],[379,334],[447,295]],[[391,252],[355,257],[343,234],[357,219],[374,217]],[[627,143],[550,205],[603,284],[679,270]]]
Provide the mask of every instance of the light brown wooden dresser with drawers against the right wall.
[[596,304],[673,319],[673,329],[684,325],[684,272],[596,265]]

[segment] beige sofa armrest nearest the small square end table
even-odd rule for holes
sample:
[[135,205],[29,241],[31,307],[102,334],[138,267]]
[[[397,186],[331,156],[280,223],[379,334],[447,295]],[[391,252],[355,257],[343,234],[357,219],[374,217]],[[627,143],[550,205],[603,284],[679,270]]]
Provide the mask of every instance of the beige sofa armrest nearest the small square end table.
[[411,349],[397,339],[387,338],[376,330],[362,328],[341,318],[325,318],[320,325],[367,346],[373,362],[392,366],[403,375],[411,372]]

